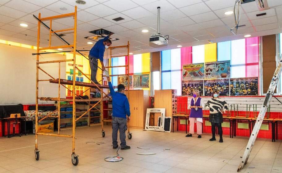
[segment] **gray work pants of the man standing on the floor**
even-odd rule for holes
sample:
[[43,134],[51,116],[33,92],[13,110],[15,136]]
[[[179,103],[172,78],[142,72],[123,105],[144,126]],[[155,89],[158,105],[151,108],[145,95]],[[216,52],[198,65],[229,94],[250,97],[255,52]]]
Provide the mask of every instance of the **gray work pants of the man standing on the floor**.
[[117,146],[117,131],[119,129],[119,139],[121,140],[121,148],[126,147],[126,135],[125,131],[127,130],[126,126],[126,118],[119,118],[112,116],[112,128],[113,128],[113,133],[112,133],[112,138],[113,138],[113,146]]

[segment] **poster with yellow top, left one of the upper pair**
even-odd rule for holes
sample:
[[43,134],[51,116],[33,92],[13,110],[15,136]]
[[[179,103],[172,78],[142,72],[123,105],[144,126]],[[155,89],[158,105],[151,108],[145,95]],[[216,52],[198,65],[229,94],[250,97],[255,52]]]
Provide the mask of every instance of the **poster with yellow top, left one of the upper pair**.
[[182,80],[204,79],[204,70],[204,63],[183,65]]

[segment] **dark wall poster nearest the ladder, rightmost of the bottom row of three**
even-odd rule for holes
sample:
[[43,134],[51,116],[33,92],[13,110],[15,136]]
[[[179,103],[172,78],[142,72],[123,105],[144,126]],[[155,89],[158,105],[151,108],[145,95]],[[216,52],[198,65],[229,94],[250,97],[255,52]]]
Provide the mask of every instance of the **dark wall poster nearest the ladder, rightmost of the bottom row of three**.
[[230,79],[230,95],[259,95],[258,78]]

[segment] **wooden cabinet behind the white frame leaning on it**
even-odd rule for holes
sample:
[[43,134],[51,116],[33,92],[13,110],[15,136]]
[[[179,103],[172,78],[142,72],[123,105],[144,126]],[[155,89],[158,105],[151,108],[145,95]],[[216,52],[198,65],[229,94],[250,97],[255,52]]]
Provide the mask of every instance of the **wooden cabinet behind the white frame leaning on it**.
[[165,116],[173,119],[172,115],[177,113],[177,90],[155,90],[154,104],[155,108],[165,108]]

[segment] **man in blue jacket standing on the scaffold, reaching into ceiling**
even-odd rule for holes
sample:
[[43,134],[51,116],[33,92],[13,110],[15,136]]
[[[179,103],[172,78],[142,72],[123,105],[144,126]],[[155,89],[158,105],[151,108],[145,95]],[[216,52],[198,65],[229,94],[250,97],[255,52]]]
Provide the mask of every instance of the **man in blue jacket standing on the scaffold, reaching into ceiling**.
[[88,58],[89,58],[89,64],[91,69],[91,80],[99,84],[99,82],[96,80],[96,74],[98,70],[98,59],[100,60],[100,63],[102,65],[102,71],[105,71],[105,65],[104,65],[104,52],[105,49],[108,49],[109,46],[112,44],[112,41],[109,39],[109,37],[113,35],[113,33],[110,33],[109,36],[106,36],[104,39],[99,40],[96,42],[96,44],[92,47],[92,49],[89,52]]

